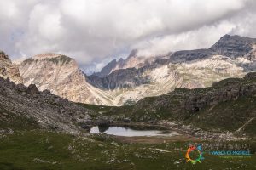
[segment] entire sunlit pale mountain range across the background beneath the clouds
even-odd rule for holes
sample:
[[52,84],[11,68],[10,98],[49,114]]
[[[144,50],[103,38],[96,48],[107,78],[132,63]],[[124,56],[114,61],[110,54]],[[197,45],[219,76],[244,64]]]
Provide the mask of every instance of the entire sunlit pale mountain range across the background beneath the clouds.
[[74,59],[41,54],[19,65],[28,86],[49,89],[72,101],[96,105],[130,105],[175,88],[209,87],[229,77],[256,70],[256,39],[221,37],[211,48],[183,50],[145,58],[131,51],[127,59],[113,60],[101,72],[86,76]]

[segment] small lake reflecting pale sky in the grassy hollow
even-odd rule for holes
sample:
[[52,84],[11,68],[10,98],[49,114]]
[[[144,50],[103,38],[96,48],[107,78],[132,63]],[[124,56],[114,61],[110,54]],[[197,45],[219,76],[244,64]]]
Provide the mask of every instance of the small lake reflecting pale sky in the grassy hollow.
[[179,133],[172,130],[141,129],[136,127],[92,127],[90,133],[106,133],[115,136],[177,136]]

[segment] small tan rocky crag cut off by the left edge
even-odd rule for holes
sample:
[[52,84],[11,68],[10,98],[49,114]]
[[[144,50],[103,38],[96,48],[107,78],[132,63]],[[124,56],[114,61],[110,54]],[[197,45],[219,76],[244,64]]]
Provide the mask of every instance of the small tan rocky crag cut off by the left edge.
[[0,51],[0,77],[9,77],[12,82],[22,83],[18,66],[13,64],[3,51]]

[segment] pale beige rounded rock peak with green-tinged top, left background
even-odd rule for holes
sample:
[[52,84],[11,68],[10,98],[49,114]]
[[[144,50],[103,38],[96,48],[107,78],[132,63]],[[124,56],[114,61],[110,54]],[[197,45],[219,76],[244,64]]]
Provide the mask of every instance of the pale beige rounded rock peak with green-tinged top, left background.
[[65,55],[39,54],[24,60],[19,69],[26,86],[35,84],[40,91],[49,89],[74,102],[105,104],[101,96],[96,96],[95,88],[86,82],[76,61]]

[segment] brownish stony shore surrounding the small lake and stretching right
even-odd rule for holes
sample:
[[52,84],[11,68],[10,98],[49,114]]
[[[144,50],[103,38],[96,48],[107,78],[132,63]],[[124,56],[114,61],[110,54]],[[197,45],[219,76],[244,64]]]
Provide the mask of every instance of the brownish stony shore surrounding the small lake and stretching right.
[[[210,132],[202,130],[201,128],[194,127],[192,125],[184,125],[182,122],[170,122],[170,121],[158,121],[158,122],[127,122],[124,121],[95,121],[90,122],[88,127],[103,126],[103,127],[141,127],[150,129],[166,129],[176,131],[180,135],[174,137],[120,137],[116,138],[124,141],[137,141],[137,139],[157,139],[157,141],[178,141],[178,140],[190,140],[190,141],[243,141],[254,140],[255,138],[247,136],[237,136],[235,133],[230,132]],[[90,128],[89,128],[90,129]],[[90,131],[90,130],[89,130]],[[106,135],[106,134],[105,134]],[[133,140],[134,139],[134,140]]]

